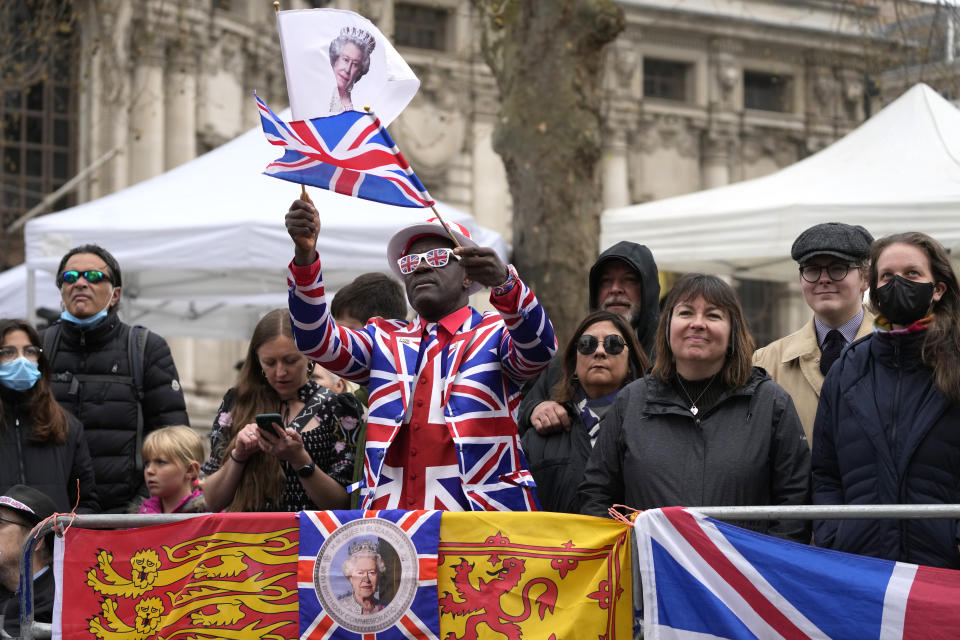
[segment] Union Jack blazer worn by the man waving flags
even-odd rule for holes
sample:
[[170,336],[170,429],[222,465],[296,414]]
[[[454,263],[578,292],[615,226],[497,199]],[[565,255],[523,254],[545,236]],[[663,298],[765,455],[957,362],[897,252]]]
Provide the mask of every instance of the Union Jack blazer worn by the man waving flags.
[[[517,434],[517,407],[520,384],[547,366],[557,342],[533,291],[519,278],[516,282],[502,295],[491,293],[490,302],[499,313],[471,307],[469,318],[443,352],[433,352],[439,357],[431,357],[430,349],[438,350],[436,341],[428,343],[417,371],[427,327],[422,318],[412,322],[374,318],[362,331],[338,326],[324,295],[320,260],[305,267],[290,263],[288,300],[297,348],[347,380],[370,385],[363,508],[372,502],[382,480],[384,458],[403,426],[412,385],[419,373],[431,371],[431,414],[442,412],[449,429],[470,509],[538,508]],[[428,363],[430,371],[424,371]]]

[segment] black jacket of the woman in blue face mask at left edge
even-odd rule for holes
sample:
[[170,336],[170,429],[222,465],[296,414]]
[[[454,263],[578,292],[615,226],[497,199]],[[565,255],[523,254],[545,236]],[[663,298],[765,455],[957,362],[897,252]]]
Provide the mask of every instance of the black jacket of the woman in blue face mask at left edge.
[[[70,431],[62,444],[32,442],[26,393],[0,387],[3,424],[0,426],[0,493],[25,484],[45,493],[62,513],[77,505],[77,513],[100,510],[93,463],[83,437],[83,425],[67,414]],[[77,500],[77,481],[80,500]]]

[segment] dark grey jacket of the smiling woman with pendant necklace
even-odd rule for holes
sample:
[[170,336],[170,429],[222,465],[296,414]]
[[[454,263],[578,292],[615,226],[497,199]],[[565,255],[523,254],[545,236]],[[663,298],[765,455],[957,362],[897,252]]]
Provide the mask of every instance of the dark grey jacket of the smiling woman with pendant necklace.
[[[620,390],[600,423],[580,485],[581,513],[615,504],[660,507],[799,505],[810,499],[810,447],[793,400],[754,367],[699,415],[652,375]],[[810,540],[806,522],[737,521],[761,533]]]

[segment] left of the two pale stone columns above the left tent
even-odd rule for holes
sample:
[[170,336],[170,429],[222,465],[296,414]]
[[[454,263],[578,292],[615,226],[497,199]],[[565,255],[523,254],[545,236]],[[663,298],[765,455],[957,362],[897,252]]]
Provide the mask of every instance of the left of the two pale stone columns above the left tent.
[[130,95],[130,184],[164,170],[164,64],[166,51],[156,33],[134,31],[133,84]]

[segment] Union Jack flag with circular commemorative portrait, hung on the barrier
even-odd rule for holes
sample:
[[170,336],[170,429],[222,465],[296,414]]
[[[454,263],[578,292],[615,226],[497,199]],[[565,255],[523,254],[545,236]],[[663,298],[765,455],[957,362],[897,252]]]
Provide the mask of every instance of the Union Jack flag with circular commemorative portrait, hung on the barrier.
[[[301,640],[438,640],[440,517],[440,511],[301,512]],[[331,586],[331,576],[340,577],[349,541],[371,539],[377,540],[386,569],[378,572],[381,607],[373,614],[350,615],[341,605],[352,597],[350,587],[341,594]]]

